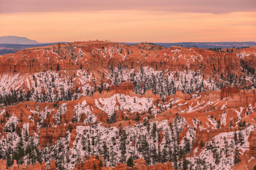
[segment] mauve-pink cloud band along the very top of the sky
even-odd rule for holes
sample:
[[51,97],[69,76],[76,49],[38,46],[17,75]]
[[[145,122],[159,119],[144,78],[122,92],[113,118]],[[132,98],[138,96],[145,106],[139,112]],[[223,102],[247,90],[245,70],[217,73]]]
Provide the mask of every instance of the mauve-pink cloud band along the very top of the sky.
[[0,2],[1,12],[143,10],[220,14],[256,11],[255,0],[0,0]]

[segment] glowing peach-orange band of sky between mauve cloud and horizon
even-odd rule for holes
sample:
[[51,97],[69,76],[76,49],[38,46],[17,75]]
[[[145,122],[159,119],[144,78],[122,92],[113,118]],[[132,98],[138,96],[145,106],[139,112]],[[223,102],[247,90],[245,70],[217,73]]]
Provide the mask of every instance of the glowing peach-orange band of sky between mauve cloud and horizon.
[[0,14],[0,36],[39,42],[255,41],[256,12],[226,14],[108,10]]

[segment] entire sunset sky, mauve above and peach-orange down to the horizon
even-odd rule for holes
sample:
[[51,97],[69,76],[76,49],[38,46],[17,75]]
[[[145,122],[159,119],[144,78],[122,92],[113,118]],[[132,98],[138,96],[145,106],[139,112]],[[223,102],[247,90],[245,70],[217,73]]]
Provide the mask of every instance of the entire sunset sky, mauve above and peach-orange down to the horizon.
[[0,0],[0,36],[38,42],[256,41],[255,0]]

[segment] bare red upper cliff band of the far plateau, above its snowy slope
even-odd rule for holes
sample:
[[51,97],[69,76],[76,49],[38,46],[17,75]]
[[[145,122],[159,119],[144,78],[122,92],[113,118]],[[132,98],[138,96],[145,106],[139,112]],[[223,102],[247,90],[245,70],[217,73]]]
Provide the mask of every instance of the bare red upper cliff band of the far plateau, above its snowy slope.
[[[240,58],[235,53],[218,53],[205,49],[182,47],[164,49],[158,48],[157,45],[149,45],[151,48],[146,48],[141,45],[129,46],[117,42],[92,41],[25,49],[2,56],[0,58],[1,68],[5,69],[0,71],[31,73],[56,70],[58,64],[61,70],[79,69],[80,65],[86,66],[88,70],[93,70],[108,65],[115,67],[123,62],[131,69],[149,66],[159,70],[175,71],[185,70],[186,67],[197,70],[201,67],[205,73],[215,70],[220,73],[228,71],[238,75],[241,72]],[[255,58],[253,50],[247,50],[247,53],[249,52],[250,57]],[[141,60],[144,62],[141,63]]]

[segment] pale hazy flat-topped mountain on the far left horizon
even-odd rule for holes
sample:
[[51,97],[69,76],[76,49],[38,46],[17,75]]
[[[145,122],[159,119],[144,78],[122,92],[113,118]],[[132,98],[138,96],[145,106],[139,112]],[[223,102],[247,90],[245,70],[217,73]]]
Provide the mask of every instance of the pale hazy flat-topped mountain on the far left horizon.
[[0,44],[38,44],[38,41],[26,37],[2,36],[0,37]]

